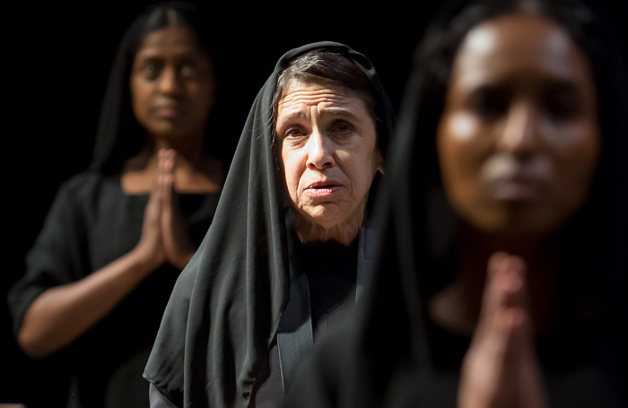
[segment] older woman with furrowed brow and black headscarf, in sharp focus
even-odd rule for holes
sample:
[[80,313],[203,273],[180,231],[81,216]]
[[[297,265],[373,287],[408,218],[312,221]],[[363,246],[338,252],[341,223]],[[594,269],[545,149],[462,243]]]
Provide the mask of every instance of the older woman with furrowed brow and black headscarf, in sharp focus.
[[361,291],[392,120],[365,56],[337,43],[282,56],[163,317],[144,372],[153,406],[276,405]]

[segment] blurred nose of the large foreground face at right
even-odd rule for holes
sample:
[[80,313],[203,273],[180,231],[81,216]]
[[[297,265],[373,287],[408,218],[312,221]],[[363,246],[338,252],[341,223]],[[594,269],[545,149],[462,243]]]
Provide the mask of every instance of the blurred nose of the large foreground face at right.
[[519,100],[510,105],[505,117],[499,148],[515,155],[527,155],[538,146],[538,112],[533,101]]

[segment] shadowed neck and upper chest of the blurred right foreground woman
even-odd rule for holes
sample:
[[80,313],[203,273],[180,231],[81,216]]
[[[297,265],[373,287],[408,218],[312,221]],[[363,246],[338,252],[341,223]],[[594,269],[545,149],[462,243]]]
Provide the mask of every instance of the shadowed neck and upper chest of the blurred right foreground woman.
[[519,256],[526,264],[528,304],[536,334],[554,323],[554,300],[559,268],[556,237],[504,237],[463,227],[456,252],[456,277],[429,301],[432,319],[458,334],[475,329],[482,304],[488,258],[495,252]]

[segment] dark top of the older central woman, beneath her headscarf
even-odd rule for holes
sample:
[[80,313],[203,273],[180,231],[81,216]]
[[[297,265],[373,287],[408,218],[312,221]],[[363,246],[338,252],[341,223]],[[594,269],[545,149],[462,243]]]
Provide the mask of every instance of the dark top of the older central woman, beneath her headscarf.
[[[336,243],[304,245],[292,230],[291,214],[292,210],[288,210],[290,301],[253,386],[250,406],[255,408],[275,408],[283,398],[284,390],[292,384],[297,364],[312,349],[314,339],[323,338],[345,321],[368,280],[370,254],[377,242],[377,234],[367,228],[368,220],[365,220],[358,238],[349,246]],[[295,281],[300,284],[294,284]],[[292,291],[293,288],[298,289]],[[301,302],[307,302],[307,306]],[[295,321],[296,327],[292,325]],[[283,338],[282,351],[278,337]],[[151,408],[182,406],[172,402],[153,384],[150,385],[150,395]]]

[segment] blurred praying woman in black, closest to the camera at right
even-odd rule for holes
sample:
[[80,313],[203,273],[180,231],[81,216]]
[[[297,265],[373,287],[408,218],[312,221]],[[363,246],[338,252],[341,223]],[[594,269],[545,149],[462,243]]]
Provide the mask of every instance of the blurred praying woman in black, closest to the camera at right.
[[571,1],[433,22],[373,280],[283,406],[625,406],[628,93],[605,32]]

